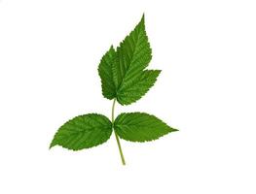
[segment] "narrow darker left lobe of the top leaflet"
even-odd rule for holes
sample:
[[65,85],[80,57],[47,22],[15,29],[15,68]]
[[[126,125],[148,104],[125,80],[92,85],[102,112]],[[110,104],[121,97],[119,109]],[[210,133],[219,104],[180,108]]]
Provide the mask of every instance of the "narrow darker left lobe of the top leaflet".
[[113,81],[112,64],[115,57],[115,49],[111,48],[104,54],[98,66],[98,74],[101,79],[102,94],[111,100],[116,97],[116,86]]

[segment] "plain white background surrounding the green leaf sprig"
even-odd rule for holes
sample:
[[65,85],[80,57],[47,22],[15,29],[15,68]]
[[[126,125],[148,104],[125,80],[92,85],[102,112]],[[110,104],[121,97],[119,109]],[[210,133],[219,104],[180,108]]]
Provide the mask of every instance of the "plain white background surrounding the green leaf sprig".
[[[256,193],[256,6],[246,0],[0,0],[0,193]],[[179,132],[49,150],[82,113],[110,115],[97,65],[145,13],[163,70],[137,103]]]

